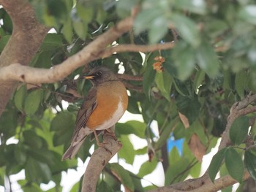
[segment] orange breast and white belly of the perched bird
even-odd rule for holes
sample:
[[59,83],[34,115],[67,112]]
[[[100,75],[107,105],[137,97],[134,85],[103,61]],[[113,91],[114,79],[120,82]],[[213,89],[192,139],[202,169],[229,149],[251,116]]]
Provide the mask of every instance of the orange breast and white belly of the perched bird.
[[[111,81],[99,85],[97,88],[97,107],[91,113],[86,127],[91,129],[110,128],[124,115],[127,104],[127,90],[122,82]],[[104,124],[109,127],[104,127]]]

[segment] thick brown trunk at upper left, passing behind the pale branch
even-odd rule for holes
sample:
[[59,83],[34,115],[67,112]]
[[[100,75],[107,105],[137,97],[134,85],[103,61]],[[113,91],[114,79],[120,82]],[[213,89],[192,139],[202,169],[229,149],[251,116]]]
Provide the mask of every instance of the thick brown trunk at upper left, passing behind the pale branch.
[[[29,64],[37,53],[48,28],[42,26],[34,15],[34,9],[26,0],[1,0],[12,19],[12,36],[0,55],[0,68],[10,64]],[[26,24],[24,24],[26,23]],[[16,82],[5,78],[0,80],[0,115],[16,87]]]

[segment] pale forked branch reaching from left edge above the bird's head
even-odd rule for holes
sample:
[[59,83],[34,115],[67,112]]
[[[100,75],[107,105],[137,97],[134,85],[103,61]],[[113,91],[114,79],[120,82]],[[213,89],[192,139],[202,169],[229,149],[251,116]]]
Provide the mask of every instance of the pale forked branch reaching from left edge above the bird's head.
[[[124,23],[127,23],[127,20],[128,19],[122,20],[119,25],[124,26]],[[132,27],[132,19],[129,18],[129,21],[131,25],[129,27]],[[128,26],[125,26],[125,28],[128,28]],[[122,32],[119,31],[118,33],[116,33],[116,39],[119,37],[117,35],[121,35],[125,32],[124,29],[119,29]],[[111,43],[109,39],[113,39],[113,33],[111,32],[113,30],[114,28],[110,29],[105,34],[102,34],[97,39],[95,39],[94,42],[91,42],[89,45],[84,47],[83,50],[81,50],[79,53],[73,55],[70,58],[67,58],[67,60],[62,62],[61,64],[53,66],[53,68],[51,69],[37,69],[30,66],[21,66],[20,64],[11,64],[10,66],[1,69],[0,80],[18,80],[21,82],[29,83],[52,83],[64,79],[64,77],[67,77],[67,75],[73,72],[75,69],[85,64],[88,64],[90,61],[106,57],[107,55],[110,56],[116,52],[138,52],[140,50],[144,52],[149,52],[153,50],[169,49],[174,46],[172,42],[159,45],[118,45],[116,48],[120,46],[121,50],[111,48],[104,50],[105,47]],[[105,39],[108,39],[108,42],[106,42]],[[105,42],[103,42],[103,40]],[[121,78],[127,79],[127,76],[123,76]],[[142,77],[133,77],[129,78],[129,80],[141,80],[141,78]]]

